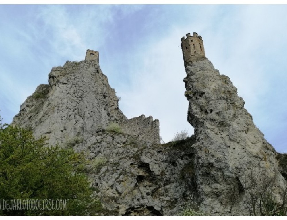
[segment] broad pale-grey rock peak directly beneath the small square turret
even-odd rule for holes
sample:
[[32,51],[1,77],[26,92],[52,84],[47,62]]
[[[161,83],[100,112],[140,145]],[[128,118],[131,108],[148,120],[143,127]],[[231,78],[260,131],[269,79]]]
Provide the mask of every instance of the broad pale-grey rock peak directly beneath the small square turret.
[[31,128],[34,136],[45,135],[56,144],[126,119],[97,62],[67,61],[63,67],[52,68],[49,85],[37,87],[12,124]]

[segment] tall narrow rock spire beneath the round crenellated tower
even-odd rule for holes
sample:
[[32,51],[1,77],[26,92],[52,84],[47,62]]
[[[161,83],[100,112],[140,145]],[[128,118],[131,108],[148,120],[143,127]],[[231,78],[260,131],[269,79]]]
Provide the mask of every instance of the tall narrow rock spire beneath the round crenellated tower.
[[205,57],[189,62],[186,73],[187,120],[195,133],[195,184],[199,200],[208,213],[228,215],[224,206],[228,207],[228,197],[235,192],[238,203],[233,214],[248,215],[248,193],[243,181],[251,170],[276,177],[274,194],[279,195],[286,188],[277,153],[253,123],[228,76],[220,75]]

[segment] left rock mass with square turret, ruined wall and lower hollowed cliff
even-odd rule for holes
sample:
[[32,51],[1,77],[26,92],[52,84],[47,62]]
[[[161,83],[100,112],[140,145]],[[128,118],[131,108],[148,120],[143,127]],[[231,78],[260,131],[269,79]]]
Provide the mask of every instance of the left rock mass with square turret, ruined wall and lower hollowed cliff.
[[[120,131],[109,129],[115,123]],[[88,50],[85,61],[52,68],[49,85],[37,87],[13,124],[84,152],[92,187],[108,214],[175,215],[191,199],[185,172],[193,172],[194,138],[181,146],[160,145],[157,119],[127,119],[96,51]]]

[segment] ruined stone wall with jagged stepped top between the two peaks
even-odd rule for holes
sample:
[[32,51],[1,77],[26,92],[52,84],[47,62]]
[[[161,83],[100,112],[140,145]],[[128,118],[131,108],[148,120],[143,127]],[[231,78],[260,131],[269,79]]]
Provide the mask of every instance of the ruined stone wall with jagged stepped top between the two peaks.
[[148,145],[160,143],[160,129],[158,119],[153,120],[152,116],[141,115],[132,119],[123,121],[121,124],[123,133],[138,137],[138,140],[144,140]]

